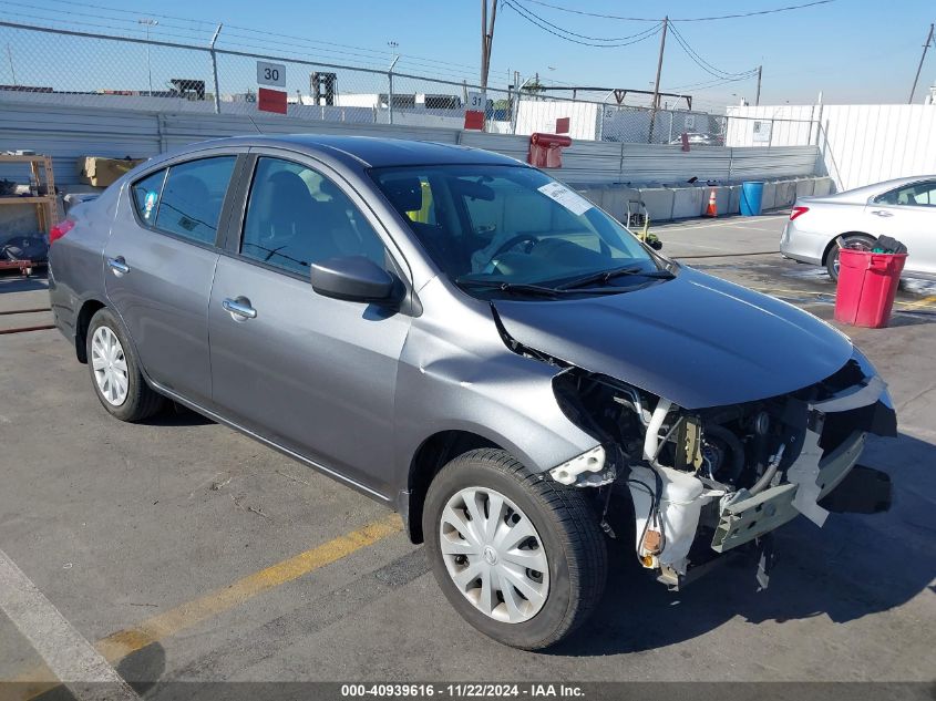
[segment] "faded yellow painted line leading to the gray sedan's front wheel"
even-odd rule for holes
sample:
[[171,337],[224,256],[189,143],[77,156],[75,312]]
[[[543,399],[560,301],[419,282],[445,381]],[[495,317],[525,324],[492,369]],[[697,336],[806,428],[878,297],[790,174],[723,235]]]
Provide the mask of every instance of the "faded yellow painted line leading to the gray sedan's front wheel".
[[[147,645],[174,636],[213,616],[239,606],[258,594],[340,560],[363,547],[400,533],[402,528],[403,524],[400,517],[392,514],[276,565],[247,575],[226,587],[215,589],[163,614],[157,614],[132,628],[119,630],[99,640],[94,647],[109,662],[117,662]],[[37,667],[12,681],[29,682],[52,678],[52,672],[48,668]],[[31,687],[29,692],[20,698],[31,698],[55,685],[58,685],[55,682],[40,682]],[[25,689],[21,688],[20,691],[25,691]]]

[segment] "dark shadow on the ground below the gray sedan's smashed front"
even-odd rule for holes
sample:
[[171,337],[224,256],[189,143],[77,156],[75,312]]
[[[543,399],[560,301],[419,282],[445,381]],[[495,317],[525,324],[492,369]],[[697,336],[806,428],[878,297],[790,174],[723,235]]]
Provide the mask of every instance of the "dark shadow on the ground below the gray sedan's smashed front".
[[651,650],[692,640],[739,616],[753,625],[820,616],[840,625],[932,590],[935,462],[935,445],[905,434],[871,441],[862,463],[891,475],[891,511],[832,514],[822,529],[801,516],[781,528],[765,591],[757,591],[752,558],[729,561],[683,591],[670,592],[624,548],[615,548],[611,557],[627,557],[627,563],[611,568],[599,609],[547,653],[592,657]]

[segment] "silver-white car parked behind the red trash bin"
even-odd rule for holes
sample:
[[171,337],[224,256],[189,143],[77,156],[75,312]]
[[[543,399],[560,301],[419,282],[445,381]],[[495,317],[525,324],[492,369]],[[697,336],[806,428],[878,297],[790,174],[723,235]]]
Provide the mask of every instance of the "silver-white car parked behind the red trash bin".
[[907,247],[902,277],[936,280],[936,175],[866,185],[824,197],[798,197],[780,238],[786,258],[825,266],[839,278],[839,248],[891,236]]

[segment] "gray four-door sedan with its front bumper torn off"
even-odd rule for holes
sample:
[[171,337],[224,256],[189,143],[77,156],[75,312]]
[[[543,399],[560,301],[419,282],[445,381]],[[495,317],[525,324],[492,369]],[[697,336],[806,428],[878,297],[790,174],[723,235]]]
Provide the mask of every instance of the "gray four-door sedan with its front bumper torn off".
[[673,588],[749,551],[765,586],[773,529],[887,503],[856,461],[896,416],[846,337],[512,158],[219,140],[50,238],[56,324],[111,415],[171,400],[399,511],[512,646],[587,619],[609,542]]

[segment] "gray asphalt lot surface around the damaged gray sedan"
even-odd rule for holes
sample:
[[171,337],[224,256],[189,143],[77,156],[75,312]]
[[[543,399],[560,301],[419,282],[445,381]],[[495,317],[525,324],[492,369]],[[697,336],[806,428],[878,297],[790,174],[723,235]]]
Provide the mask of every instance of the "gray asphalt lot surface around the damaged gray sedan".
[[[782,226],[655,231],[683,262],[830,319],[834,286],[780,257]],[[3,276],[0,311],[48,306],[42,288]],[[0,331],[48,321],[17,317],[0,315]],[[187,411],[115,421],[54,330],[0,334],[0,554],[49,604],[48,625],[146,698],[178,680],[932,682],[934,321],[936,286],[911,285],[891,328],[843,329],[897,408],[899,437],[872,439],[863,458],[891,474],[891,512],[784,527],[761,592],[748,565],[672,594],[619,558],[593,621],[546,652],[462,622],[374,502]],[[55,698],[20,626],[0,614],[0,680]]]

